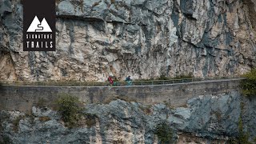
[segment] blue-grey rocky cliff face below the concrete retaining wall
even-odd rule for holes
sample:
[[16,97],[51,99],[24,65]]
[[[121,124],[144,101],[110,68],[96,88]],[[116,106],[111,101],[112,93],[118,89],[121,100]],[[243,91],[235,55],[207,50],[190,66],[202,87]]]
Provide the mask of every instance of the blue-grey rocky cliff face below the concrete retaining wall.
[[238,92],[206,94],[174,107],[168,103],[143,106],[115,100],[87,104],[81,126],[69,129],[60,115],[48,108],[33,107],[32,115],[0,113],[2,138],[14,143],[158,143],[156,127],[166,122],[175,143],[224,143],[238,136],[239,118],[250,138],[256,136],[256,98]]

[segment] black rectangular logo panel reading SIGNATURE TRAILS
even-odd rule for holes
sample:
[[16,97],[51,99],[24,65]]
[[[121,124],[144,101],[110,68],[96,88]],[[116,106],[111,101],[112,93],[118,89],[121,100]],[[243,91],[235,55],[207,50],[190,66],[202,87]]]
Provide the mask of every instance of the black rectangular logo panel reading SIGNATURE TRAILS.
[[55,51],[55,0],[23,0],[23,51]]

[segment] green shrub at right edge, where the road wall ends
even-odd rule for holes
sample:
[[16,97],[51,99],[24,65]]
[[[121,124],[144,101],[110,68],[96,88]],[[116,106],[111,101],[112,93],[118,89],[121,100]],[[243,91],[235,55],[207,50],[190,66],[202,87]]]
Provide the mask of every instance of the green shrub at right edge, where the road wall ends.
[[256,95],[256,69],[243,75],[246,79],[241,81],[242,94],[245,96]]

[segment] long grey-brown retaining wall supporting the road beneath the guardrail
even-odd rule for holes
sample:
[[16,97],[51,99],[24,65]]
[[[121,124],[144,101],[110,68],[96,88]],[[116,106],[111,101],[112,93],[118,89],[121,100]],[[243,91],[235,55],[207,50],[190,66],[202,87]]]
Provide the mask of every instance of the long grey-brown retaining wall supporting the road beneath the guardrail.
[[168,103],[171,106],[184,106],[187,100],[198,97],[198,95],[238,91],[240,80],[235,78],[162,86],[2,86],[0,89],[0,110],[30,112],[32,106],[42,102],[47,105],[54,104],[54,99],[58,98],[59,94],[77,96],[85,103],[108,103],[119,98],[146,105]]

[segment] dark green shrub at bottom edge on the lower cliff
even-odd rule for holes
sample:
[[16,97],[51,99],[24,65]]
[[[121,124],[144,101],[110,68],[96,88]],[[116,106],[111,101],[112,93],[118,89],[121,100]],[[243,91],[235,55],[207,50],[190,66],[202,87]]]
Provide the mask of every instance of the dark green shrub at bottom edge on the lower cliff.
[[161,143],[170,143],[173,138],[173,130],[170,128],[167,122],[159,123],[154,134],[158,136]]

